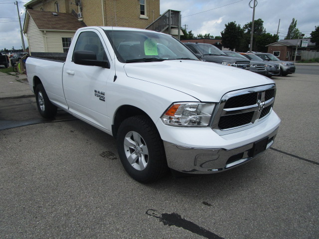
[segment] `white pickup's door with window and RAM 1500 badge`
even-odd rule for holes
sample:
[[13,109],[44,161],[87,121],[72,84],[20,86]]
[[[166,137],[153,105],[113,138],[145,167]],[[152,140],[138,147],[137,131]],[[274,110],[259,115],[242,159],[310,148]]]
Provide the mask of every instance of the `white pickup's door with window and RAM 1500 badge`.
[[[105,49],[103,38],[95,29],[81,32],[74,47],[74,51],[93,51],[97,60],[108,60]],[[73,57],[67,59],[63,68],[63,89],[69,111],[104,131],[109,131],[106,83],[111,71],[112,66],[107,69],[75,64]]]

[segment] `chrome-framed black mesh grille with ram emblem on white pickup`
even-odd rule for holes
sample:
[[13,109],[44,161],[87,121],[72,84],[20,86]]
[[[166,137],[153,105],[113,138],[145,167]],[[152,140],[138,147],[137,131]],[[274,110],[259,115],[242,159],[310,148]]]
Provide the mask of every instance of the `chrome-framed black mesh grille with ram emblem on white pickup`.
[[225,94],[212,120],[212,129],[227,134],[259,124],[271,113],[275,95],[275,84]]

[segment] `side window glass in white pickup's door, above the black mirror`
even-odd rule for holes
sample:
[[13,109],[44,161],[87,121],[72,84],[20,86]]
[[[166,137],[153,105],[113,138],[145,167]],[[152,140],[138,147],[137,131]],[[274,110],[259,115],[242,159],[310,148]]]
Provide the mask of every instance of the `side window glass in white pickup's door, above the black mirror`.
[[93,51],[98,61],[108,60],[100,37],[93,31],[80,33],[74,51]]

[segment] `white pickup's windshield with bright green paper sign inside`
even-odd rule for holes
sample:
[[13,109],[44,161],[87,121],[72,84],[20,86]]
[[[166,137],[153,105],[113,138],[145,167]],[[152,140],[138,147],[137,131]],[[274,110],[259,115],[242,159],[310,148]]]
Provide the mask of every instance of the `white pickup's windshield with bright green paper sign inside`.
[[176,38],[152,31],[105,30],[115,54],[123,63],[164,60],[198,60]]

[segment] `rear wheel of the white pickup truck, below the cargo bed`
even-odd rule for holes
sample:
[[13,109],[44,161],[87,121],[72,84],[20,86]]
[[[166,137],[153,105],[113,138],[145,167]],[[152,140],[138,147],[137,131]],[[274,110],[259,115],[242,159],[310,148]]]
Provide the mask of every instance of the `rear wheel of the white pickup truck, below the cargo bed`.
[[43,118],[55,117],[57,107],[50,102],[42,84],[38,84],[35,88],[35,99],[38,111]]

